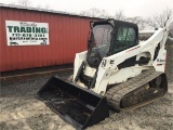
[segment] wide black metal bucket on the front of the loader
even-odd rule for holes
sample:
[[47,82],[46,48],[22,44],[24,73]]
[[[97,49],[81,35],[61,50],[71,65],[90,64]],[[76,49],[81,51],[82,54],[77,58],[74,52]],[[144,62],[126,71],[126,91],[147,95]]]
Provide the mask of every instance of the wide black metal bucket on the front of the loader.
[[84,129],[109,116],[104,96],[57,77],[52,77],[37,95],[77,129]]

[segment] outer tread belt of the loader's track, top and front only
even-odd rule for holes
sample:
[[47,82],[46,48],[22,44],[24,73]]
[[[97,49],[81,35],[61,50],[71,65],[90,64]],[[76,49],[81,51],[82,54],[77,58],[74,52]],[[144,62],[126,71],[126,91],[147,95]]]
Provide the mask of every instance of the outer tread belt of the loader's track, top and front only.
[[105,94],[108,105],[115,110],[121,112],[120,102],[125,94],[134,91],[135,89],[138,89],[139,87],[143,87],[144,84],[148,83],[161,74],[163,73],[156,72],[155,69],[148,69],[141,75],[129,79],[125,82],[110,88]]

